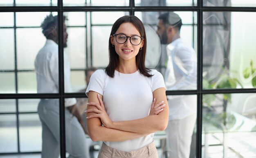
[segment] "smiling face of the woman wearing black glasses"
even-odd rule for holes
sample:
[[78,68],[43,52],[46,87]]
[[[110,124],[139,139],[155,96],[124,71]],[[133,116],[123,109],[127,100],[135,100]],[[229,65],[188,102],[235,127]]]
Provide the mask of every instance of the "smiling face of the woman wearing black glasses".
[[[119,26],[115,34],[123,34],[126,36],[140,36],[139,31],[136,27],[130,23],[125,22]],[[139,48],[143,47],[144,40],[141,40],[139,45],[133,45],[130,42],[130,37],[127,37],[127,40],[124,44],[119,44],[116,40],[117,36],[110,36],[111,43],[115,45],[115,50],[119,55],[119,60],[135,60],[136,55],[139,53]]]

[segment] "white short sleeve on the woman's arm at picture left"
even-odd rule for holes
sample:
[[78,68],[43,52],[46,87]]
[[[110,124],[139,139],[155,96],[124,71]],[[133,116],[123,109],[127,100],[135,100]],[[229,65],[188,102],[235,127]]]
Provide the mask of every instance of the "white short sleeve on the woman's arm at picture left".
[[97,70],[92,74],[89,85],[85,92],[87,97],[88,97],[89,91],[94,91],[103,95],[105,76],[106,76],[106,73],[104,70]]

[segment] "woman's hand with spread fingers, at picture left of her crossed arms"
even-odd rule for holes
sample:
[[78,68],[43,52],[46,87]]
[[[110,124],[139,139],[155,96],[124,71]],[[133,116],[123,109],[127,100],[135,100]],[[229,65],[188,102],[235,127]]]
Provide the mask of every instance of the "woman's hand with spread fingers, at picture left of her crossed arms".
[[87,105],[92,105],[92,106],[95,106],[97,109],[93,108],[93,109],[89,109],[89,110],[86,110],[85,112],[88,113],[88,112],[94,112],[96,114],[92,114],[90,116],[87,117],[87,119],[90,119],[90,118],[94,118],[94,117],[98,117],[101,119],[101,123],[107,127],[107,128],[110,128],[111,125],[112,125],[112,121],[110,120],[106,110],[105,110],[105,106],[104,106],[104,103],[102,101],[102,99],[99,97],[99,94],[97,95],[98,99],[99,99],[99,103],[87,103]]

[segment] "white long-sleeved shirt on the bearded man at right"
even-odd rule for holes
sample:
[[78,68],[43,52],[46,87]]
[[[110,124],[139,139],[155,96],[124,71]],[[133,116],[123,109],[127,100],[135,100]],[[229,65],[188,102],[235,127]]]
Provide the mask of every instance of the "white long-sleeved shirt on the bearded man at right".
[[[165,73],[166,90],[196,90],[197,57],[195,50],[178,38],[166,46],[168,62]],[[196,95],[167,96],[169,120],[182,119],[197,112]]]

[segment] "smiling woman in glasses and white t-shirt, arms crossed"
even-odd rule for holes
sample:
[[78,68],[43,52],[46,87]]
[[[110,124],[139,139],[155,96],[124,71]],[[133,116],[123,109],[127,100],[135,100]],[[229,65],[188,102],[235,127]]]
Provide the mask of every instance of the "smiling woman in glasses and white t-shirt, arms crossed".
[[108,66],[94,72],[86,90],[88,132],[103,141],[98,158],[158,158],[153,133],[166,128],[168,103],[161,73],[145,68],[142,22],[119,18],[108,47]]

